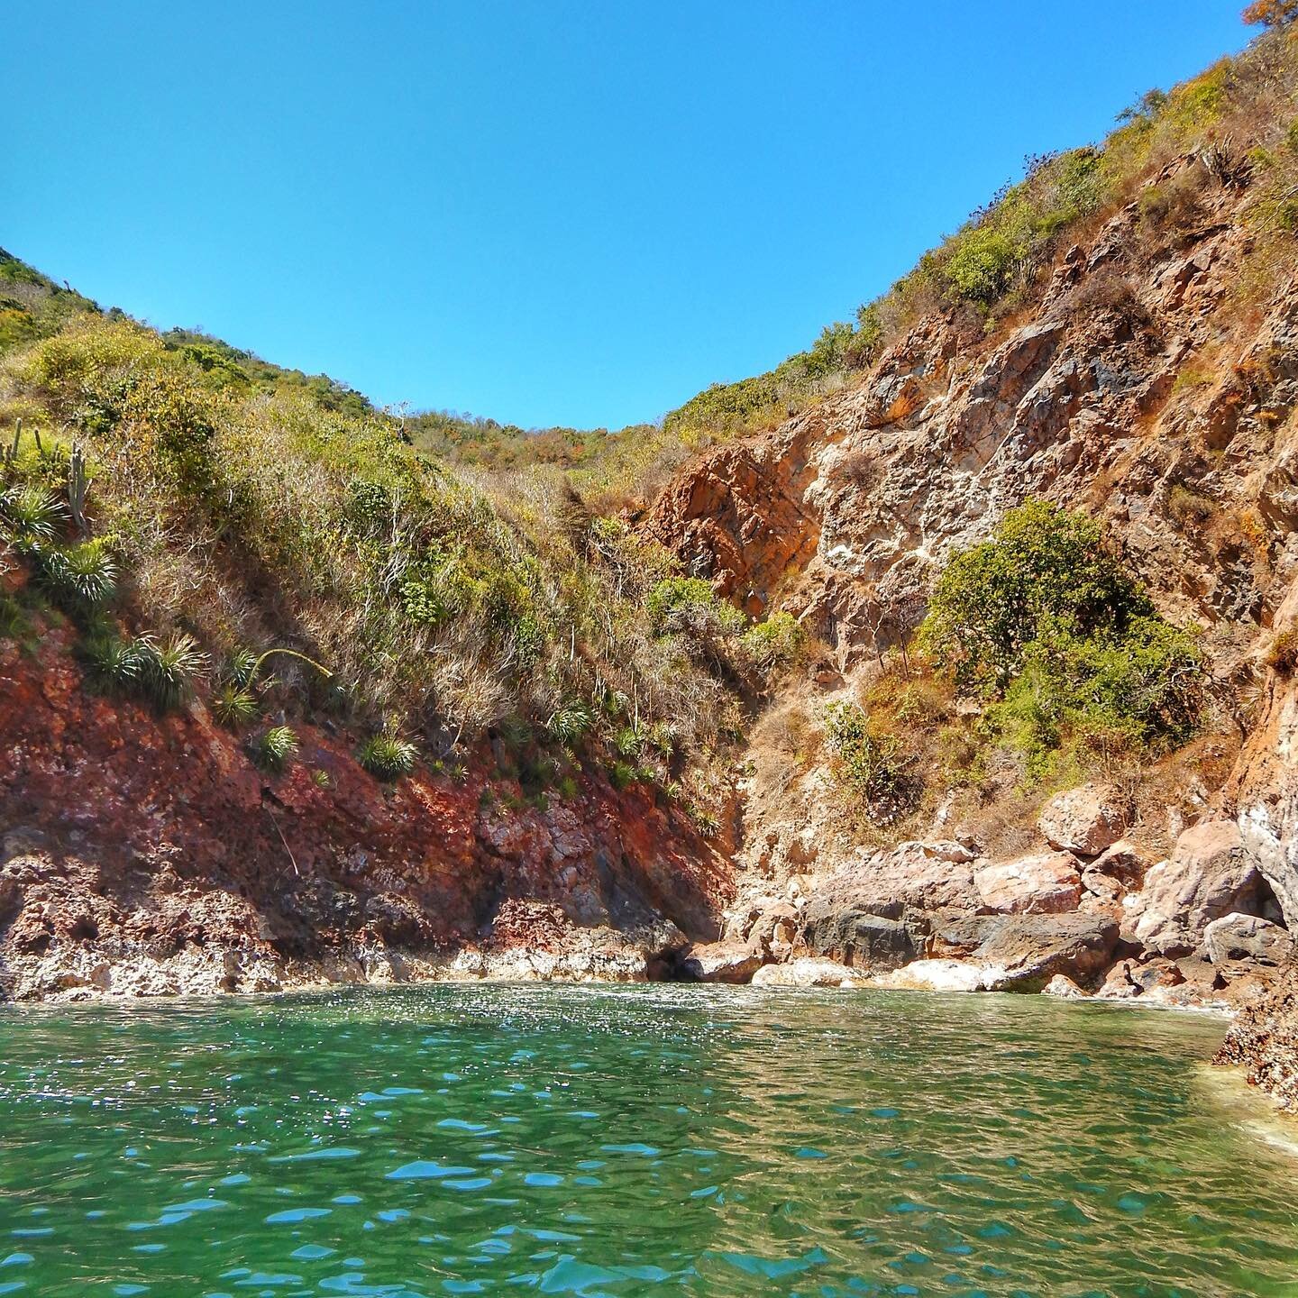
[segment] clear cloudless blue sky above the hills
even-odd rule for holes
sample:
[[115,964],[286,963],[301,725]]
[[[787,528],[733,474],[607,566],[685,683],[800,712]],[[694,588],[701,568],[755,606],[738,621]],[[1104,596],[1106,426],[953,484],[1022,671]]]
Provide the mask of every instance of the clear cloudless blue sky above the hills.
[[0,245],[379,402],[768,369],[1243,0],[5,0]]

